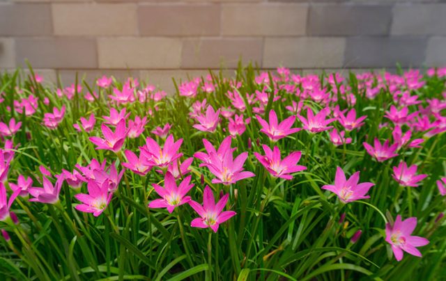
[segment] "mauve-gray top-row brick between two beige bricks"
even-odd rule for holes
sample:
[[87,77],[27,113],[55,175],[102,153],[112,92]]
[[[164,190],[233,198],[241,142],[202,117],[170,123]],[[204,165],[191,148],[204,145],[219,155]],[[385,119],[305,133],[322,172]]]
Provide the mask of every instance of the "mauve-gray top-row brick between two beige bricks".
[[141,35],[218,35],[220,5],[141,5],[138,25]]

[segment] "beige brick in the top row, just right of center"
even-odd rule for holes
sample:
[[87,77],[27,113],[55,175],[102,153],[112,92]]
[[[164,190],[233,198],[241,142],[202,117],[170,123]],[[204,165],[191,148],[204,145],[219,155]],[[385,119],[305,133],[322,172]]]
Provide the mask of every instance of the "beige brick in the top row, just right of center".
[[229,4],[222,6],[223,35],[304,35],[306,4]]

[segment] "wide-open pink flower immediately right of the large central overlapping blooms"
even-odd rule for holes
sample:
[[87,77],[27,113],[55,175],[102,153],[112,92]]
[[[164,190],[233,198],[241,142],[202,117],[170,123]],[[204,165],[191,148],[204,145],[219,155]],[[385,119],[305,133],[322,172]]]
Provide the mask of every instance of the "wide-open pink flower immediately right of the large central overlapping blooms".
[[265,155],[263,156],[257,152],[254,152],[254,155],[273,177],[293,179],[291,175],[293,172],[307,169],[305,166],[296,165],[300,160],[300,151],[291,152],[289,156],[282,160],[279,147],[275,146],[273,150],[268,145],[262,145],[262,147]]

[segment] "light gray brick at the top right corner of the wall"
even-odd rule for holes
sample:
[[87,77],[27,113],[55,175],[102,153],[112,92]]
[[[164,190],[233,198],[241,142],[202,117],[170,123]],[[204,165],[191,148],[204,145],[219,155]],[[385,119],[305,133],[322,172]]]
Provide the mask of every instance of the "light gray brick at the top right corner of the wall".
[[391,33],[446,35],[446,3],[396,5]]

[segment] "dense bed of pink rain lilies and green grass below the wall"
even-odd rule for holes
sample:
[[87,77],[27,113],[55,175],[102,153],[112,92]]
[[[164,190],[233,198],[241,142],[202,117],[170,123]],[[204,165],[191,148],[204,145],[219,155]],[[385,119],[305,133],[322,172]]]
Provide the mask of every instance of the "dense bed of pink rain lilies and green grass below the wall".
[[0,75],[2,280],[444,280],[446,69]]

